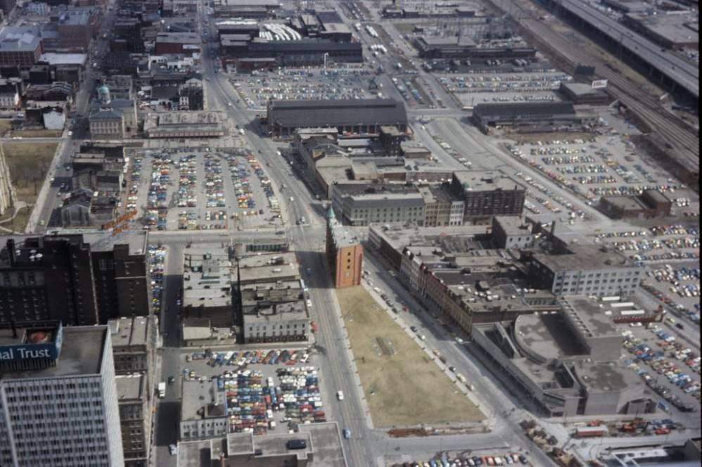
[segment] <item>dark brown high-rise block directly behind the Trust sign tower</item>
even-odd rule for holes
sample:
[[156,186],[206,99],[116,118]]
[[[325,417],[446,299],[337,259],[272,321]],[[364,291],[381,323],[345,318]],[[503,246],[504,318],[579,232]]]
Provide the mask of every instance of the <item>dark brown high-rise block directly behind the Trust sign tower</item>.
[[141,231],[0,238],[0,327],[146,316],[148,286]]

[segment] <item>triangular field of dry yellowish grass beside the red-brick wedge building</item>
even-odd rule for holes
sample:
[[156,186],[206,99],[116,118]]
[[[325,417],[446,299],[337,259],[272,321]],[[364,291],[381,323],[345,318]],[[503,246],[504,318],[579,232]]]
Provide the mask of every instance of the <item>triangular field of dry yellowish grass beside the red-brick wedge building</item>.
[[363,287],[336,293],[375,426],[483,420],[480,410]]

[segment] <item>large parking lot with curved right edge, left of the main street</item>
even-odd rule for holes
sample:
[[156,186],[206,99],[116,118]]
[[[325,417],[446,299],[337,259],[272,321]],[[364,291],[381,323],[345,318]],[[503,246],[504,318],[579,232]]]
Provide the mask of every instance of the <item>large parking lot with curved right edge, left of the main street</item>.
[[281,226],[270,179],[243,148],[134,151],[127,210],[154,230]]

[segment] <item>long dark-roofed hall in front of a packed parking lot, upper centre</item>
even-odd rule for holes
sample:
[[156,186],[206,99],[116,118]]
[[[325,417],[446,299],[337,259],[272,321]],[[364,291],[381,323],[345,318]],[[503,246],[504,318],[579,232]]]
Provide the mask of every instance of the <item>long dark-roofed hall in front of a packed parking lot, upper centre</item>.
[[393,99],[270,101],[268,128],[274,137],[288,137],[298,128],[336,128],[339,133],[378,135],[383,125],[407,131],[404,104]]

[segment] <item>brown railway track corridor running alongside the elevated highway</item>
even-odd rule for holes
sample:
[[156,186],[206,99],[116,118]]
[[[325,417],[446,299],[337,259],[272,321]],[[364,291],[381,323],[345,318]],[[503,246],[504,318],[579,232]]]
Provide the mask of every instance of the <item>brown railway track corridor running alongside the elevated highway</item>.
[[[523,27],[525,35],[539,45],[544,51],[551,51],[556,56],[562,58],[567,65],[574,70],[575,65],[594,66],[597,74],[607,79],[609,90],[615,98],[627,106],[633,113],[648,124],[651,131],[660,134],[670,145],[675,153],[674,157],[680,165],[683,165],[691,172],[699,172],[699,135],[696,130],[689,127],[687,123],[675,115],[668,113],[661,108],[655,96],[646,94],[626,77],[620,75],[617,70],[613,70],[605,60],[598,58],[582,46],[573,44],[571,41],[555,32],[540,20],[531,19],[532,11],[529,11],[515,1],[488,0],[501,11],[513,13],[514,20]],[[514,10],[518,9],[521,14],[515,15]],[[521,19],[517,19],[521,18]]]

